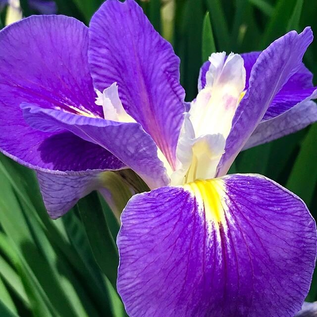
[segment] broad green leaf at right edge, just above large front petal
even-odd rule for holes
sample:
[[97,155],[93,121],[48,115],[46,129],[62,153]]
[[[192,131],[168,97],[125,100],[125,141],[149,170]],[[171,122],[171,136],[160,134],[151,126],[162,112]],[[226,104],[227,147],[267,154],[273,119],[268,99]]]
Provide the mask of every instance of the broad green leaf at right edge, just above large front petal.
[[289,175],[286,188],[301,197],[309,206],[317,185],[317,124],[306,135]]

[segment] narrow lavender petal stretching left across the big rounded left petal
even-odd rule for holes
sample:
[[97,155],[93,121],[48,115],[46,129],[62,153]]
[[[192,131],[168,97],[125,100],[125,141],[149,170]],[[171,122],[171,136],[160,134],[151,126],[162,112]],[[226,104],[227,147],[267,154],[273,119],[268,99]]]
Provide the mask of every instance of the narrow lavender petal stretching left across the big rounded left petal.
[[21,107],[31,127],[41,131],[68,130],[105,148],[139,174],[150,188],[169,182],[156,144],[139,123],[115,122],[30,104]]

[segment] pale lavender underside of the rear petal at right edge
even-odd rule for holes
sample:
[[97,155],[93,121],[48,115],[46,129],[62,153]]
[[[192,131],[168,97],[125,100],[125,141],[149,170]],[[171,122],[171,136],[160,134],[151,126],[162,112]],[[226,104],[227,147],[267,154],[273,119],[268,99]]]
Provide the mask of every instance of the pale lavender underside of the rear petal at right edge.
[[300,103],[274,119],[261,122],[244,145],[243,150],[294,133],[316,121],[316,104],[313,101]]

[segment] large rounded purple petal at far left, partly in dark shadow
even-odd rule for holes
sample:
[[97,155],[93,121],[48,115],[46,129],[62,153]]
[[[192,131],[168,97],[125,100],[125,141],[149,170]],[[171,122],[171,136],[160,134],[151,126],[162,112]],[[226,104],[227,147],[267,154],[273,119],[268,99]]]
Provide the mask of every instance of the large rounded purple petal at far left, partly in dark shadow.
[[[0,151],[44,171],[107,169],[111,168],[108,159],[122,166],[106,150],[77,137],[72,145],[68,137],[63,140],[61,131],[32,129],[20,109],[21,103],[30,102],[68,111],[73,106],[101,115],[88,69],[88,28],[65,16],[32,16],[3,29],[0,42]],[[71,154],[76,146],[92,153],[77,149],[76,158]]]

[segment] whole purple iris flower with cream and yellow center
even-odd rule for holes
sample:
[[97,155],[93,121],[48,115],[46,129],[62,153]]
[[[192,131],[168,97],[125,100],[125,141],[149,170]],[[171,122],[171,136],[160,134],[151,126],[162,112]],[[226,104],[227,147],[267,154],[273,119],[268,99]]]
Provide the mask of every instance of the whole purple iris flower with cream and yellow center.
[[[0,149],[36,170],[53,218],[131,168],[150,192],[124,209],[118,292],[131,317],[292,317],[310,287],[316,225],[240,151],[317,120],[302,57],[312,31],[259,53],[213,53],[189,105],[179,58],[134,0],[90,27],[33,16],[0,32]],[[93,212],[93,211],[92,211]]]

